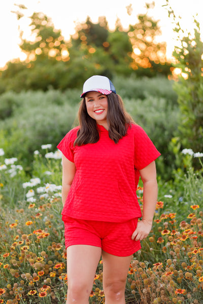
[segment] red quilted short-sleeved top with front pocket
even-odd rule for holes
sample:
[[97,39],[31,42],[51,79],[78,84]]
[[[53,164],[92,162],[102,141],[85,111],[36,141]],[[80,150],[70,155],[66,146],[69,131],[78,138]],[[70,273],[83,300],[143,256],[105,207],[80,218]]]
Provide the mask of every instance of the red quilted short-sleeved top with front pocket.
[[139,170],[160,156],[138,125],[115,143],[108,130],[97,125],[99,140],[74,146],[79,127],[69,131],[57,145],[75,163],[76,174],[62,210],[63,215],[80,219],[123,222],[141,217],[136,190]]

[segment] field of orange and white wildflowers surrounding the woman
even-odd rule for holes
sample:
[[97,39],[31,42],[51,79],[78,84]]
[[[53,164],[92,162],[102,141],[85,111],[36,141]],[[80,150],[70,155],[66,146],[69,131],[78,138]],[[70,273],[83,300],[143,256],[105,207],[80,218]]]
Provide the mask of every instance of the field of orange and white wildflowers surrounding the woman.
[[[32,176],[0,149],[0,303],[65,303],[61,155],[51,148],[35,151]],[[157,177],[153,227],[132,256],[126,303],[203,303],[203,177],[191,166],[202,156],[184,149],[184,171],[177,170],[173,181]],[[142,208],[142,183],[137,194]],[[105,303],[102,277],[100,260],[90,303]]]

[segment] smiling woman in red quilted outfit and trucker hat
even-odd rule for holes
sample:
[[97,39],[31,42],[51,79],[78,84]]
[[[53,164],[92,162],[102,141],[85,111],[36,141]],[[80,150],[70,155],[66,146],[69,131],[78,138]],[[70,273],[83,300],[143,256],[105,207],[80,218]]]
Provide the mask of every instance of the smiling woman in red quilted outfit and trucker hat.
[[[62,152],[66,303],[89,302],[102,256],[105,303],[124,304],[132,254],[151,231],[160,153],[125,111],[107,77],[90,77],[81,97],[79,127],[57,146]],[[143,214],[136,196],[140,176]]]

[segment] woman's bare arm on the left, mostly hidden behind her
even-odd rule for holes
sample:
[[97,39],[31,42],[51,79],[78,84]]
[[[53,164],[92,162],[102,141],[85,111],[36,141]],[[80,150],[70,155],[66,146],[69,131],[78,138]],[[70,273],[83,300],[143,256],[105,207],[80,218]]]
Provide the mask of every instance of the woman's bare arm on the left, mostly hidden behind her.
[[76,166],[74,163],[66,159],[62,154],[62,203],[63,206],[65,204],[65,200],[67,198],[67,194],[71,188],[71,184],[74,180],[76,174]]

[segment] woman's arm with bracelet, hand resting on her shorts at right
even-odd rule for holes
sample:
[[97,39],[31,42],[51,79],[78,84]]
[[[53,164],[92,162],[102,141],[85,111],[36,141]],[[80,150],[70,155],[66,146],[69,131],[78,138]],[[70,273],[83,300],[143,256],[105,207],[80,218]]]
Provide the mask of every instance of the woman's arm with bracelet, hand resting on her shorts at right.
[[155,162],[140,170],[140,176],[143,181],[143,216],[132,234],[132,240],[136,241],[145,239],[152,227],[158,192]]

